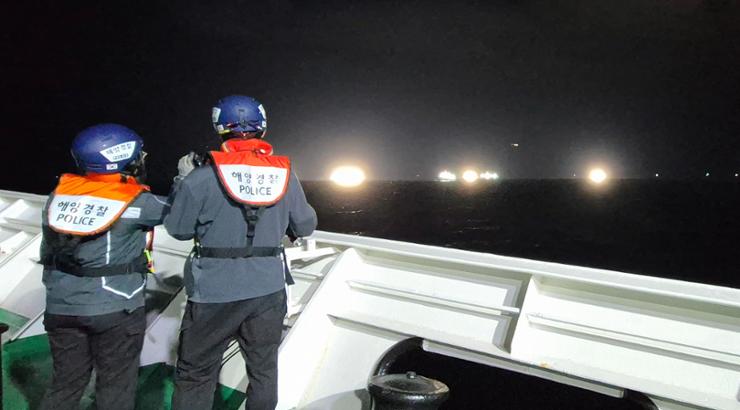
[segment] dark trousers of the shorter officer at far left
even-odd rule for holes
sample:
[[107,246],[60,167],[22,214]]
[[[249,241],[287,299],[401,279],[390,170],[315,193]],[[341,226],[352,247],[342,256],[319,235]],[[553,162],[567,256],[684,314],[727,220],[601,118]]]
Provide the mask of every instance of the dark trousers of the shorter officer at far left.
[[136,401],[144,308],[95,316],[45,314],[54,362],[41,409],[78,409],[93,368],[98,409],[131,410]]

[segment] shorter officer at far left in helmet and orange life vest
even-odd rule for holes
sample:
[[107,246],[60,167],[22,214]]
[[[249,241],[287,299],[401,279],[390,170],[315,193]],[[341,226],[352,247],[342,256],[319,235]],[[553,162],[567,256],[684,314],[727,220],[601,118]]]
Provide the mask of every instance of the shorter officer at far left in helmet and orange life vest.
[[147,231],[167,207],[141,184],[142,147],[121,125],[83,130],[72,143],[80,174],[62,175],[44,206],[44,327],[54,370],[42,409],[79,408],[93,368],[97,408],[134,408]]

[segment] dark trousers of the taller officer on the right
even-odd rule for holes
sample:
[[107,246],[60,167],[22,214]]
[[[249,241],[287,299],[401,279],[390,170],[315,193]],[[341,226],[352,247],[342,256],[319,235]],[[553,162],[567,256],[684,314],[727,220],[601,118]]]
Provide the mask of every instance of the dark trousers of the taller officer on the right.
[[286,311],[285,290],[228,303],[188,301],[180,327],[172,409],[211,409],[223,354],[236,340],[249,377],[246,410],[273,410]]

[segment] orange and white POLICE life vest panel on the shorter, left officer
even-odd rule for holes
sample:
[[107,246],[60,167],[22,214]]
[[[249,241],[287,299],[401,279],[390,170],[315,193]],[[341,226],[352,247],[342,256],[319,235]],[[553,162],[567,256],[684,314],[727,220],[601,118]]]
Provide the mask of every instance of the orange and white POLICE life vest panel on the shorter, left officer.
[[49,227],[88,236],[105,232],[149,187],[121,174],[64,174],[49,204]]

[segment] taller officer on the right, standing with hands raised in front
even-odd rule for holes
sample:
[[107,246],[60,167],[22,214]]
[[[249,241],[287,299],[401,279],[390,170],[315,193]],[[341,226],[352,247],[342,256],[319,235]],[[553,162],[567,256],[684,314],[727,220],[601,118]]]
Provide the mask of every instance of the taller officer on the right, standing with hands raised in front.
[[[249,376],[247,410],[277,405],[277,350],[286,313],[281,259],[286,230],[310,235],[316,212],[288,157],[263,141],[262,104],[230,96],[213,107],[223,137],[210,165],[180,159],[167,232],[195,240],[185,266],[188,303],[180,327],[172,408],[210,409],[227,345],[236,339]],[[192,172],[190,172],[192,170]]]

